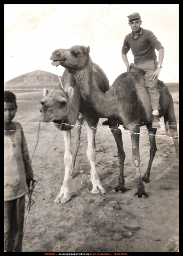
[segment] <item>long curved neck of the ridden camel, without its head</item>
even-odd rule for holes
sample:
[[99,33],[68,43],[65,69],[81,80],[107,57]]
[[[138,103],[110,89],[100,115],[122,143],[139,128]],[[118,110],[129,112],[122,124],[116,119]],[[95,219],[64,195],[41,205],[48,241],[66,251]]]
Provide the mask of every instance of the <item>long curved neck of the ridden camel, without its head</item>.
[[[100,67],[93,67],[90,59],[83,70],[79,70],[74,74],[81,91],[81,97],[86,104],[91,105],[91,108],[99,117],[113,116],[116,113],[116,96],[110,90],[106,93],[101,92],[97,83],[107,83],[107,77],[103,75],[101,78],[103,71],[100,68],[99,74],[99,70],[96,68]],[[102,79],[104,80],[102,81]]]

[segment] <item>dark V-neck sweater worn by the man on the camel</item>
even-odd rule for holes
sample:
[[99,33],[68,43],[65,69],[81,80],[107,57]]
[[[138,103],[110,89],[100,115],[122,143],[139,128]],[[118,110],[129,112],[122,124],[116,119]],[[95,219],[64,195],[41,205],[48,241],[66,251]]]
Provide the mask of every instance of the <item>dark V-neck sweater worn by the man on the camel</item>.
[[134,63],[139,61],[156,60],[155,49],[164,48],[161,42],[157,40],[154,33],[150,30],[141,28],[137,38],[134,38],[133,32],[125,37],[122,47],[122,54],[127,54],[129,49],[134,55]]

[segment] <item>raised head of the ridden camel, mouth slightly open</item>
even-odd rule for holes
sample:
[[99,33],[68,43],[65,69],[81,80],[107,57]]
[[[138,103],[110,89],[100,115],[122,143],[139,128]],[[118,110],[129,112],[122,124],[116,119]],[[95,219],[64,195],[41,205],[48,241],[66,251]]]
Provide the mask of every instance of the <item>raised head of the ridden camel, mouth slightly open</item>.
[[75,45],[69,49],[57,49],[52,52],[50,60],[52,65],[61,65],[68,68],[68,72],[74,73],[86,67],[89,61],[90,47]]

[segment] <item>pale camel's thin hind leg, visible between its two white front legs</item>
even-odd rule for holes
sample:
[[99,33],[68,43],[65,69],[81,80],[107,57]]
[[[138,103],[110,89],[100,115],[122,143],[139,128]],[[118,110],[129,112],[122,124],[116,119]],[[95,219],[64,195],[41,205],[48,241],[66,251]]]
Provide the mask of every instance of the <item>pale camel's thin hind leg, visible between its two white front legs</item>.
[[70,175],[69,175],[69,179],[73,179],[76,176],[76,173],[74,173],[74,165],[76,162],[76,156],[77,156],[77,151],[79,149],[79,145],[80,145],[80,135],[81,135],[81,129],[82,129],[82,125],[84,122],[84,116],[79,113],[77,122],[76,122],[76,136],[75,136],[75,140],[74,140],[74,153],[73,153],[73,157],[72,157],[72,167],[70,168]]

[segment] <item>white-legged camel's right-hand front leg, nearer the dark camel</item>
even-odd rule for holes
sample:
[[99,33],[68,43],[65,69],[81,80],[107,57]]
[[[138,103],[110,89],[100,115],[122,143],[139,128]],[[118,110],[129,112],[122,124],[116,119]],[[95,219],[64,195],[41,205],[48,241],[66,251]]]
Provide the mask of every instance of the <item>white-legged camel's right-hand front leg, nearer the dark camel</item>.
[[[86,151],[86,154],[88,156],[88,160],[90,161],[91,165],[91,177],[90,181],[92,182],[93,189],[92,189],[92,194],[99,194],[99,193],[106,193],[106,190],[102,188],[102,185],[100,184],[100,178],[99,175],[97,175],[97,170],[95,167],[95,159],[96,159],[96,152],[95,152],[95,134],[97,131],[97,124],[93,124],[90,122],[90,120],[86,120],[88,127],[87,127],[87,132],[88,132],[88,148]],[[99,122],[99,119],[97,123]],[[92,127],[90,127],[90,126]]]

